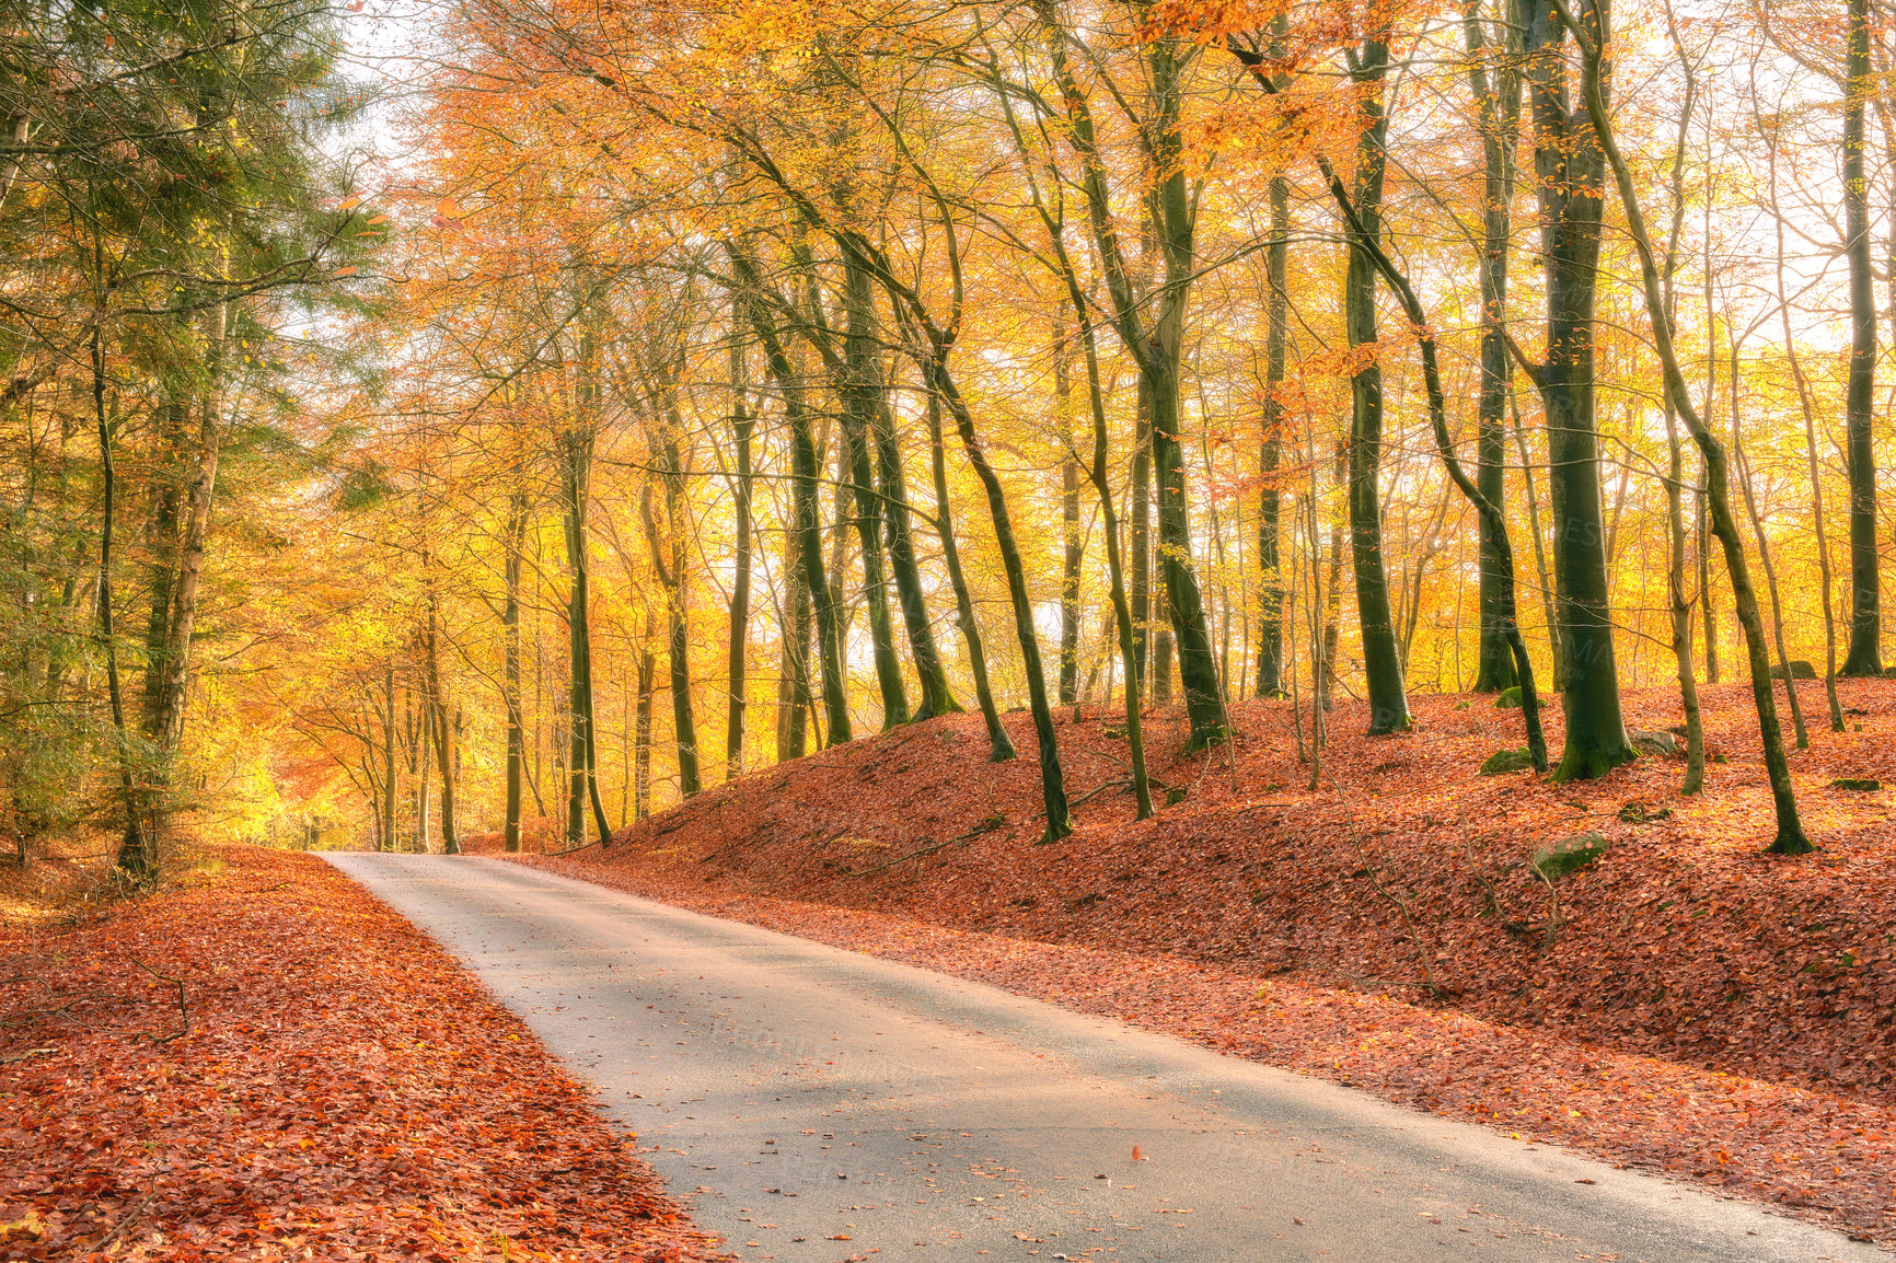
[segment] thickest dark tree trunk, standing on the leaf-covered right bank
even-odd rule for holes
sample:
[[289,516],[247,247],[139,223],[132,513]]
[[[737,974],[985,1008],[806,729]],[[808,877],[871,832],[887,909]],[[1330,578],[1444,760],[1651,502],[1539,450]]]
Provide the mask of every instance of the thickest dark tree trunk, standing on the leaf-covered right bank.
[[[1557,0],[1522,0],[1522,11],[1547,260],[1547,360],[1532,372],[1547,415],[1555,609],[1566,658],[1566,747],[1553,778],[1570,781],[1602,776],[1634,757],[1613,662],[1595,429],[1593,311],[1606,163],[1585,108],[1570,102],[1568,28]],[[1587,30],[1606,28],[1606,0],[1581,0],[1576,11]]]

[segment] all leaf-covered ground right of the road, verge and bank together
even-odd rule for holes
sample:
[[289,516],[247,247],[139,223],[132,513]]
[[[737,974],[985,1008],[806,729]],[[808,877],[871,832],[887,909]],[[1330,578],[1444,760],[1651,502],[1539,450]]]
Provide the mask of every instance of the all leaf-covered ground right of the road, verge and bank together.
[[[1117,715],[1062,713],[1077,833],[1041,833],[1031,753],[986,762],[976,715],[760,770],[605,850],[529,857],[667,903],[906,960],[1665,1170],[1896,1244],[1896,681],[1822,685],[1792,755],[1814,855],[1777,859],[1750,692],[1706,688],[1716,762],[1553,785],[1477,774],[1519,711],[1416,698],[1363,738],[1342,704],[1306,789],[1291,711],[1236,707],[1231,749],[1181,757],[1185,798],[1134,823]],[[1680,721],[1627,694],[1631,728]],[[1033,749],[1026,715],[1009,715]],[[1559,751],[1560,717],[1549,715]],[[1103,787],[1103,789],[1102,789]],[[1098,795],[1088,796],[1090,791]],[[1534,848],[1612,848],[1549,886]],[[476,850],[491,850],[493,838]]]

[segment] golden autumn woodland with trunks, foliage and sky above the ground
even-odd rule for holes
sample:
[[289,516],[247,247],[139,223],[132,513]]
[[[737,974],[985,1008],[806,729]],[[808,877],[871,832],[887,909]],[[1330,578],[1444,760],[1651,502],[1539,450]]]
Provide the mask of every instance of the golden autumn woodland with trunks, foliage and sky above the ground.
[[0,833],[559,850],[1026,707],[1058,838],[1054,707],[1124,711],[1143,814],[1141,713],[1282,696],[1314,785],[1327,698],[1505,688],[1555,778],[1678,690],[1691,787],[1697,685],[1750,679],[1796,851],[1782,747],[1845,715],[1767,671],[1881,673],[1892,38],[17,4]]

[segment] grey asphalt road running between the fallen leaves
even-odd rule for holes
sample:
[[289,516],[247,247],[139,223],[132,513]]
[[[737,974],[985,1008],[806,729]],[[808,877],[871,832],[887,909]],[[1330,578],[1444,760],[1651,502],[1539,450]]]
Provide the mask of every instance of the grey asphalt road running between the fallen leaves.
[[1121,1022],[521,865],[330,859],[592,1081],[741,1259],[1885,1257]]

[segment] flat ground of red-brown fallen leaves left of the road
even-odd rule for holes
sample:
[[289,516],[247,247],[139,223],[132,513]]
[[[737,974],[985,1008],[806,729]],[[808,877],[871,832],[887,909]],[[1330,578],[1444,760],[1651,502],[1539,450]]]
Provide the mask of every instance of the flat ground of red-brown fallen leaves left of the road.
[[637,1142],[311,855],[0,897],[0,1259],[709,1259]]

